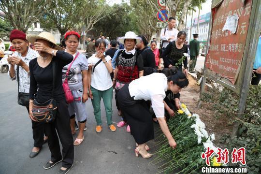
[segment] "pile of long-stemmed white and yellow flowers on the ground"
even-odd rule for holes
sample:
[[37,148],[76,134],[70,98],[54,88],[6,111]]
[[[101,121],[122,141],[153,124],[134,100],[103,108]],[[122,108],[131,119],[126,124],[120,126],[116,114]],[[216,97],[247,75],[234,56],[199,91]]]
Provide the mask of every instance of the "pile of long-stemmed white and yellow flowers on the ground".
[[[211,166],[222,166],[216,159],[217,147],[213,144],[215,135],[208,135],[205,130],[205,124],[201,121],[200,116],[191,114],[187,106],[182,103],[180,109],[174,117],[168,121],[168,127],[173,135],[177,147],[169,147],[168,140],[164,134],[156,139],[159,142],[159,149],[155,152],[157,158],[152,160],[153,164],[160,165],[158,173],[176,174],[198,174],[202,167],[206,166],[202,153],[209,147],[214,150],[210,157]],[[158,130],[156,133],[159,133]]]

